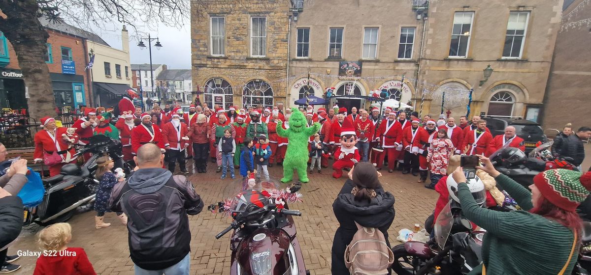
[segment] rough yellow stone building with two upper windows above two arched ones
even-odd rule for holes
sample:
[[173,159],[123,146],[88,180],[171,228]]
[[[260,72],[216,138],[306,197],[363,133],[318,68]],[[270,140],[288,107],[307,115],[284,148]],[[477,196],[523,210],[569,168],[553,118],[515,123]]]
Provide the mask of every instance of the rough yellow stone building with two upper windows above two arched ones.
[[284,105],[290,0],[191,2],[193,90],[210,107]]

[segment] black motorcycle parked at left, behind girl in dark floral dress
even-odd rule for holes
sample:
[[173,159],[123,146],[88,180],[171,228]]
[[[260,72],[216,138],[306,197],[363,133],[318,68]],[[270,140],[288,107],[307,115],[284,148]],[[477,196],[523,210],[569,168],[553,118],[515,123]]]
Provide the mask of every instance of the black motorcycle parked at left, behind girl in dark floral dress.
[[94,176],[99,157],[109,155],[115,167],[124,168],[126,174],[131,171],[131,167],[122,159],[121,143],[117,140],[105,135],[95,135],[73,158],[88,152],[93,155],[82,166],[66,164],[61,167],[59,175],[43,179],[43,201],[38,206],[24,208],[24,226],[32,223],[40,226],[62,223],[69,220],[77,208],[92,208],[99,184]]

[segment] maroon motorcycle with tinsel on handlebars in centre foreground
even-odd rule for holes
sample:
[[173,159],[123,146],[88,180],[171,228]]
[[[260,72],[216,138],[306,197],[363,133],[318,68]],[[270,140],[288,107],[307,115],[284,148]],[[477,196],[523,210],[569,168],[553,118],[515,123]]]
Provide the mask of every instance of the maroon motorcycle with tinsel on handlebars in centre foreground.
[[273,178],[251,185],[239,179],[224,188],[222,194],[229,199],[212,204],[209,210],[233,218],[230,226],[216,235],[219,239],[234,230],[230,274],[309,274],[291,217],[301,213],[287,205],[301,201],[300,188],[301,183],[287,187]]

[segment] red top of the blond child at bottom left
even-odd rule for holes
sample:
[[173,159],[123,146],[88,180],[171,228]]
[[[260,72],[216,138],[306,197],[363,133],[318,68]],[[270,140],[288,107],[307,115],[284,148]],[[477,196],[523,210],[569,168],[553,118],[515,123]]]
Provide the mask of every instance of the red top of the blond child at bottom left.
[[42,253],[37,259],[33,275],[54,274],[96,275],[86,252],[81,247],[68,247],[65,250],[57,251],[55,256],[53,256],[53,251],[47,255]]

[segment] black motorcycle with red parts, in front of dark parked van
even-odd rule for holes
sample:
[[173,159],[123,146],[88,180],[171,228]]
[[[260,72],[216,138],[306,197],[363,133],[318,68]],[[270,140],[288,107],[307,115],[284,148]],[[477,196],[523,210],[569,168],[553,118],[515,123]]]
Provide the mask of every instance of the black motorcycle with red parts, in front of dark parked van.
[[556,158],[552,156],[548,150],[552,143],[553,141],[547,143],[538,142],[538,146],[529,155],[525,155],[518,148],[509,147],[507,143],[499,150],[496,150],[495,153],[492,153],[489,158],[497,171],[529,189],[529,186],[534,183],[535,175],[542,171],[556,168],[578,171],[570,163],[573,161],[572,158]]

